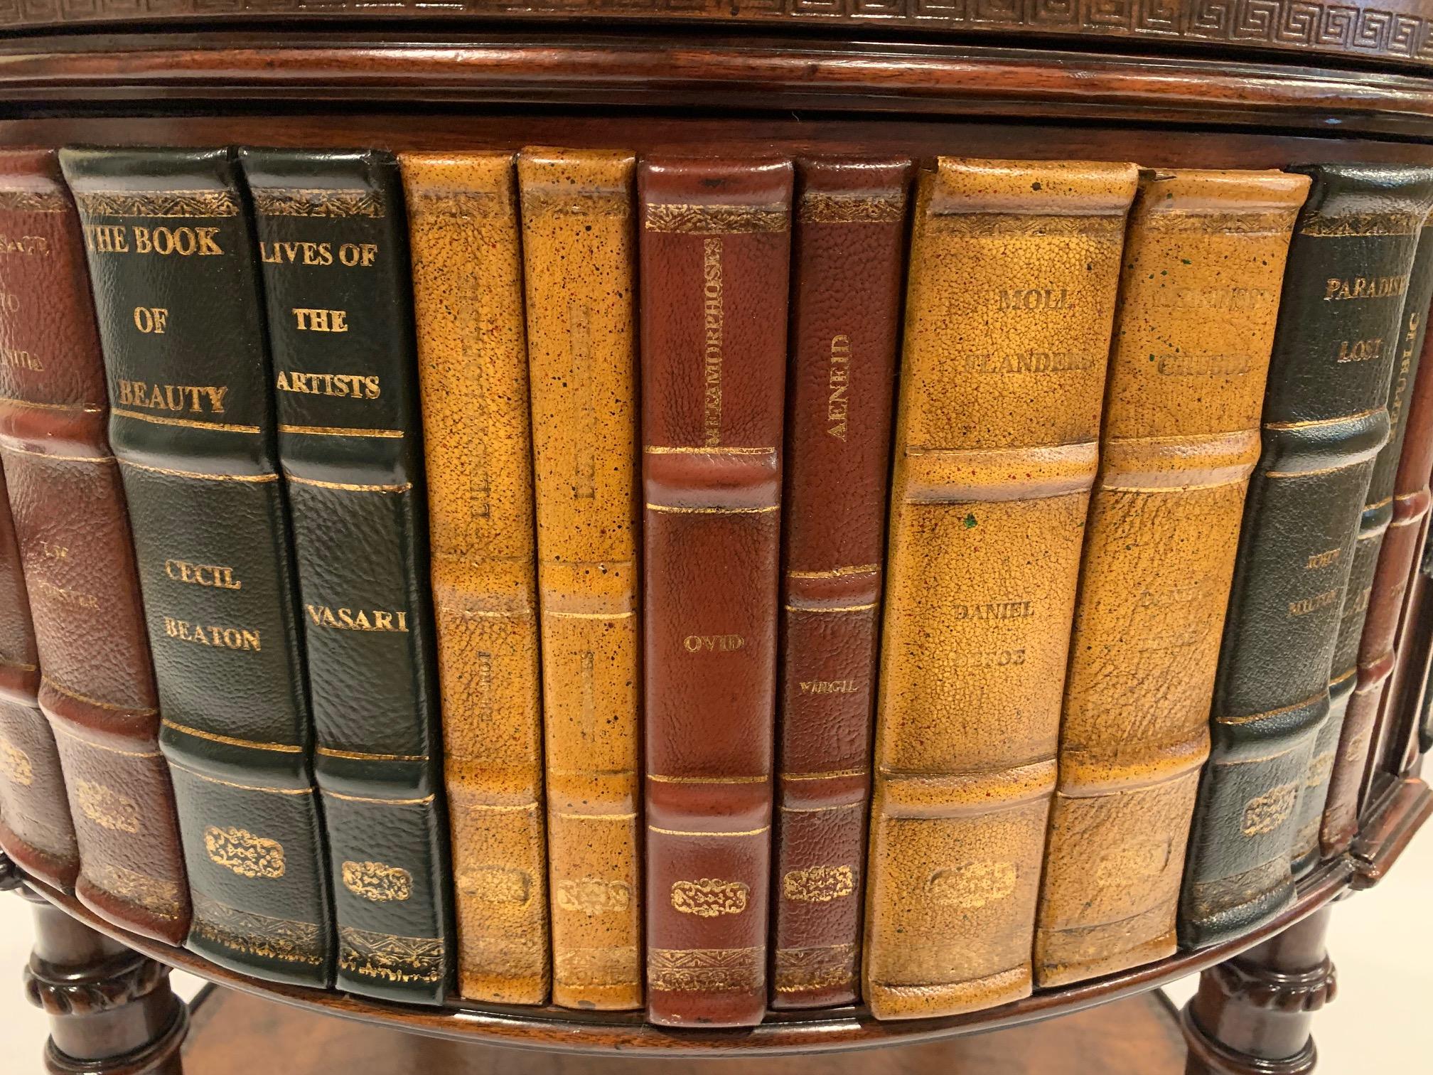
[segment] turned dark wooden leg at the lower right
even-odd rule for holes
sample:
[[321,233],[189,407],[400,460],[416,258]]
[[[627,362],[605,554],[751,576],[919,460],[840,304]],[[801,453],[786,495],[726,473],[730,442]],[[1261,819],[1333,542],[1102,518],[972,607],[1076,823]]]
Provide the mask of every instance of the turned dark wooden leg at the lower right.
[[1331,909],[1199,975],[1184,1009],[1187,1075],[1304,1075],[1318,1054],[1308,1028],[1334,998],[1324,947]]

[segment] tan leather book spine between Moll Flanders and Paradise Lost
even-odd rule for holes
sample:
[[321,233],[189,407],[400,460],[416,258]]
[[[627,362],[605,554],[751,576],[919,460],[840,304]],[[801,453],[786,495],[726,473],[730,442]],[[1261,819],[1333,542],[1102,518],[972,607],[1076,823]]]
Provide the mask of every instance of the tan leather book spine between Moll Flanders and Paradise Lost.
[[1035,936],[1040,986],[1169,956],[1284,257],[1307,176],[1154,172],[1125,244]]

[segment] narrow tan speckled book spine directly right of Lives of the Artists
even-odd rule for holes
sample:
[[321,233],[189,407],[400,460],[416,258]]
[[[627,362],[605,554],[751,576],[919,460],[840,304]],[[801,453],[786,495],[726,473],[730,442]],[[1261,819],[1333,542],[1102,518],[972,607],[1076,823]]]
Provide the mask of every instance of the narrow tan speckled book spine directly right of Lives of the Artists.
[[459,992],[547,996],[522,247],[512,153],[404,153]]

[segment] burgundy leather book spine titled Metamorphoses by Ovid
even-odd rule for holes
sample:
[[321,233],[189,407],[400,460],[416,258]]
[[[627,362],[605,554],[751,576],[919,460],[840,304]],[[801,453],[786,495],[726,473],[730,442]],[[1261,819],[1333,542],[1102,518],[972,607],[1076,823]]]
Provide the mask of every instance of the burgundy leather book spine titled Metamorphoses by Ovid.
[[641,166],[648,1018],[767,1008],[792,168]]

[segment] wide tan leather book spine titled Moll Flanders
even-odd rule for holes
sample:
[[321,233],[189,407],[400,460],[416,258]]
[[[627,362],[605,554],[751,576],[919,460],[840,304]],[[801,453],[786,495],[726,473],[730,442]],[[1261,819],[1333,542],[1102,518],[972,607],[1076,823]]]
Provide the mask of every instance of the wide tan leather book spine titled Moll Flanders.
[[876,718],[866,1002],[1026,996],[1070,616],[1138,171],[920,178]]

